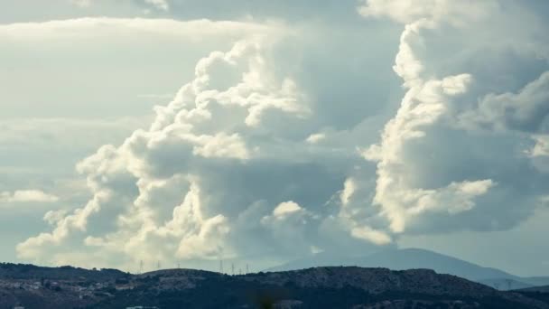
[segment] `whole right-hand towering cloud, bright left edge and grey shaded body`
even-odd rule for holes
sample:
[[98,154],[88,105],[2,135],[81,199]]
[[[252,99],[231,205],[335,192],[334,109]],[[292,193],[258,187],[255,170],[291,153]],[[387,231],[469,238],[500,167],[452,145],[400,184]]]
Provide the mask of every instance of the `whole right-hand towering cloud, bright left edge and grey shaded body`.
[[[404,80],[407,92],[395,117],[387,122],[380,143],[371,145],[363,152],[367,160],[377,162],[377,183],[373,203],[379,207],[380,214],[387,220],[391,233],[448,231],[467,229],[468,226],[473,229],[501,229],[498,228],[499,224],[506,227],[515,224],[524,216],[531,214],[537,205],[535,198],[531,199],[529,195],[533,192],[527,193],[522,197],[516,197],[522,200],[521,204],[527,206],[515,220],[510,219],[514,211],[513,206],[509,205],[506,211],[492,218],[492,227],[488,227],[489,222],[486,222],[484,227],[475,227],[478,223],[464,218],[473,218],[475,214],[488,211],[482,211],[481,208],[495,209],[500,201],[497,196],[502,192],[509,192],[509,186],[513,186],[513,181],[507,178],[508,175],[496,176],[496,173],[490,174],[481,170],[479,173],[444,173],[441,177],[438,169],[444,165],[453,165],[451,158],[441,158],[436,160],[436,164],[429,162],[433,151],[437,152],[441,147],[467,154],[468,150],[464,149],[461,143],[470,140],[464,145],[473,144],[472,141],[479,138],[477,135],[480,134],[479,124],[482,121],[487,121],[490,126],[498,126],[498,123],[505,121],[505,117],[524,119],[523,121],[529,124],[535,122],[535,126],[540,126],[540,122],[544,121],[544,91],[538,90],[543,88],[539,87],[544,83],[543,76],[528,84],[525,89],[521,89],[517,95],[481,95],[478,92],[470,94],[471,88],[479,91],[479,84],[487,81],[476,80],[467,72],[453,75],[440,73],[437,71],[440,62],[422,58],[425,51],[430,49],[428,42],[433,42],[437,31],[443,29],[446,32],[469,33],[476,29],[468,23],[484,24],[480,28],[485,28],[486,23],[493,21],[487,19],[490,9],[497,7],[495,2],[477,5],[450,1],[375,0],[365,1],[359,7],[359,12],[364,16],[387,16],[399,23],[405,23],[394,70]],[[490,13],[497,15],[499,11]],[[440,46],[438,48],[441,49]],[[468,102],[476,100],[474,95],[480,96],[479,107],[485,107],[485,112]],[[490,102],[493,102],[493,105],[489,105]],[[541,110],[537,110],[540,106]],[[531,115],[538,117],[534,120]],[[469,128],[455,126],[456,119],[463,122],[467,119]],[[472,129],[475,133],[470,129],[471,123],[477,124],[475,129]],[[446,137],[437,133],[441,130]],[[460,137],[452,144],[442,139],[447,136]],[[508,138],[516,140],[513,134],[508,135]],[[523,143],[524,141],[523,138]],[[490,153],[495,150],[487,146],[482,147],[482,151]],[[479,154],[469,156],[472,158],[470,164],[483,160]],[[453,159],[460,162],[459,157]],[[509,156],[507,160],[511,162],[516,159]],[[524,164],[524,160],[520,160],[523,159],[519,158],[515,164]],[[500,186],[502,188],[499,188]],[[536,190],[533,194],[540,194],[544,189]],[[360,188],[354,191],[359,192]],[[358,220],[358,224],[364,222],[363,224],[368,226],[370,221],[371,217],[367,216]],[[515,223],[510,223],[512,221]],[[379,226],[377,220],[376,222]],[[452,223],[443,227],[442,222]]]

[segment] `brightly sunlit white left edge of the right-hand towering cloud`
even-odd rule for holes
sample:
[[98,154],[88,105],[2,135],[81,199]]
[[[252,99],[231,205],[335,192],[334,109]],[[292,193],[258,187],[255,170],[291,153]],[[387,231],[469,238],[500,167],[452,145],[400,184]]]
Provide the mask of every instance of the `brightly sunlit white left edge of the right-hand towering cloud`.
[[[438,10],[438,6],[432,6],[434,4],[433,2],[430,5],[418,6],[423,7],[425,12],[433,13]],[[367,6],[366,13],[376,8],[379,3],[372,2],[368,5],[374,6]],[[389,5],[377,7],[374,12],[392,14],[393,9]],[[402,8],[395,11],[405,12]],[[364,10],[362,13],[365,14]],[[392,17],[401,21],[401,16]],[[412,17],[417,18],[415,14]],[[423,77],[424,65],[414,54],[412,42],[421,39],[420,33],[423,29],[435,26],[436,21],[433,19],[420,19],[406,24],[401,35],[394,70],[405,81],[408,92],[396,116],[386,124],[381,143],[370,146],[364,153],[368,160],[378,162],[374,204],[383,209],[383,213],[390,221],[390,229],[395,233],[404,232],[407,221],[413,220],[414,216],[425,211],[468,211],[475,205],[474,198],[486,193],[493,184],[491,180],[467,181],[425,190],[414,188],[403,173],[405,165],[413,164],[406,160],[406,144],[425,136],[425,129],[433,126],[442,117],[452,97],[465,92],[471,80],[469,74],[447,76],[442,80]]]

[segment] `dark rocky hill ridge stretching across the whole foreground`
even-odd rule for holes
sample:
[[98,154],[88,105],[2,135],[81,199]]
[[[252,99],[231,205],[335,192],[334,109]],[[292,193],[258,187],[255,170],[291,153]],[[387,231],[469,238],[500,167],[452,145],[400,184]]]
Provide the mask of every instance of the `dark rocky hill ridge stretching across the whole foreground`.
[[[5,265],[3,266],[5,267]],[[0,277],[0,309],[33,308],[539,308],[543,297],[502,292],[429,269],[314,267],[228,276],[192,269],[129,275],[116,270],[11,265]],[[0,267],[2,268],[2,267]],[[39,267],[40,268],[40,267]],[[77,270],[75,270],[77,269]],[[38,269],[37,269],[38,270]],[[70,277],[67,271],[78,273]]]

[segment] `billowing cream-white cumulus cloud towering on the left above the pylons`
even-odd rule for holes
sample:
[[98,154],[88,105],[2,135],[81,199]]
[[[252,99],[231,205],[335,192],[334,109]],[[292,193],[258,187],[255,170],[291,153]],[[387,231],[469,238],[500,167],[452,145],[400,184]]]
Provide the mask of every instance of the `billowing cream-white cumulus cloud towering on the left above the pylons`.
[[[187,260],[233,254],[225,239],[237,205],[216,209],[229,201],[207,191],[219,176],[216,169],[246,167],[247,161],[272,155],[254,137],[255,130],[268,129],[263,118],[270,113],[302,118],[308,112],[293,80],[269,72],[263,48],[261,40],[251,39],[228,52],[212,52],[170,104],[155,108],[149,130],[137,130],[123,145],[105,145],[82,161],[78,170],[87,176],[93,198],[62,218],[47,215],[54,229],[21,243],[20,256],[36,258],[51,245],[61,255],[75,242],[130,259],[150,258],[151,252]],[[229,188],[215,190],[233,194]],[[294,212],[295,205],[283,203],[273,215]],[[133,254],[142,248],[151,250]]]

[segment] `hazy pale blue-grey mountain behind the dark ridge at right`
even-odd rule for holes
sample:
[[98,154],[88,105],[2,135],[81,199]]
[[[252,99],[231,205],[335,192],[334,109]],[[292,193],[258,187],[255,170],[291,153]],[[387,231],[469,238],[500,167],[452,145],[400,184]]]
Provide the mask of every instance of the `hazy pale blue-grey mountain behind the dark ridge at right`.
[[[484,284],[491,283],[491,286],[498,287],[499,289],[516,289],[543,285],[545,282],[549,284],[549,277],[523,278],[511,275],[497,268],[481,267],[456,257],[419,248],[388,249],[365,257],[341,257],[319,254],[298,259],[279,267],[269,268],[265,271],[284,271],[325,266],[386,267],[394,270],[428,268],[440,274],[461,276]],[[508,288],[509,286],[510,288]]]

